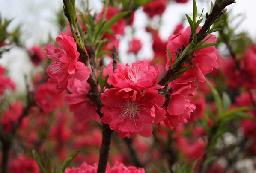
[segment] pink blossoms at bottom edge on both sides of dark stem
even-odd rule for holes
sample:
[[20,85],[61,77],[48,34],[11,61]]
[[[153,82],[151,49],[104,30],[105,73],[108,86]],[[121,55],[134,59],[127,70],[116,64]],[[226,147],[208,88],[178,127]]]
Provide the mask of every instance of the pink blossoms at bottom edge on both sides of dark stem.
[[[67,168],[65,173],[97,173],[98,164],[89,165],[86,162],[81,164],[80,167]],[[124,164],[115,162],[113,167],[107,164],[106,173],[145,173],[143,168],[137,168],[134,166],[126,167]]]

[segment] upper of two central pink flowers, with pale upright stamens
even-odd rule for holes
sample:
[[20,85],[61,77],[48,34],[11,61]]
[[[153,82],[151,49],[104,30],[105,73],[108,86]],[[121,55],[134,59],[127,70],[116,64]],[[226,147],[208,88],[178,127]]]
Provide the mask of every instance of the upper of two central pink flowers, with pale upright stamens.
[[156,84],[158,74],[158,67],[150,66],[148,61],[136,62],[131,67],[128,64],[117,66],[117,69],[108,78],[108,83],[116,88],[133,87],[144,90],[153,87],[160,89],[163,86]]

